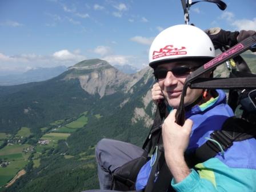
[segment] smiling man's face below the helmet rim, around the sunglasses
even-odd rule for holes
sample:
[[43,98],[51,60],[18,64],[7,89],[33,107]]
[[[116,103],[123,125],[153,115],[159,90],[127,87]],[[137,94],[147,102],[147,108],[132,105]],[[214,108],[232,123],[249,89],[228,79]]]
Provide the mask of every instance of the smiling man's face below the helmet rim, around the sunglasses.
[[[195,61],[177,61],[161,64],[155,70],[172,70],[175,67],[181,66],[195,69],[199,66],[199,64]],[[187,71],[187,73],[182,75],[175,75],[175,70],[168,71],[165,78],[159,78],[159,86],[161,87],[163,95],[171,107],[178,108],[186,77],[191,73],[191,71]],[[202,91],[202,89],[190,89],[188,87],[186,96],[184,98],[184,105],[188,106],[196,101],[198,97],[202,97]]]

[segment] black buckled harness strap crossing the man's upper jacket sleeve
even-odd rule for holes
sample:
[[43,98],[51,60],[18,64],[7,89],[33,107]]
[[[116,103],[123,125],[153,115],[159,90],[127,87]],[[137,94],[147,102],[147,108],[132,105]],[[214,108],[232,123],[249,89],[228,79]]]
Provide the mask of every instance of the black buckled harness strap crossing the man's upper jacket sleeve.
[[[234,141],[243,141],[253,138],[255,135],[254,125],[241,118],[230,117],[223,123],[222,130],[214,131],[210,134],[210,138],[217,141],[222,149],[226,151],[233,145]],[[190,164],[197,165],[197,163],[215,157],[219,152],[221,152],[221,149],[218,144],[208,140],[201,147],[198,147],[193,155],[189,155],[187,158],[193,159]]]

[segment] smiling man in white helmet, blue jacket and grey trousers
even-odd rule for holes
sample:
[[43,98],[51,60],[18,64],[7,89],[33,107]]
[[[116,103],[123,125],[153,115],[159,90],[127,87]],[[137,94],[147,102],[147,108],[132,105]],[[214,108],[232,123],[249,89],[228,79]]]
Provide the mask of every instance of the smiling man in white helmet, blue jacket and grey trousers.
[[[223,122],[234,115],[223,91],[188,88],[184,101],[185,124],[175,123],[175,109],[187,75],[214,57],[214,46],[207,34],[189,25],[169,27],[151,45],[149,65],[159,85],[153,87],[153,99],[165,99],[174,108],[162,126],[165,159],[173,174],[170,185],[176,191],[256,191],[256,154],[251,153],[256,150],[254,138],[234,142],[224,154],[217,154],[194,169],[189,169],[185,161],[185,153],[203,145],[214,130],[220,130]],[[210,77],[211,73],[203,76]],[[101,189],[110,189],[111,174],[142,153],[142,149],[129,143],[100,141],[96,157]],[[150,171],[147,162],[139,171],[136,190],[145,189]]]

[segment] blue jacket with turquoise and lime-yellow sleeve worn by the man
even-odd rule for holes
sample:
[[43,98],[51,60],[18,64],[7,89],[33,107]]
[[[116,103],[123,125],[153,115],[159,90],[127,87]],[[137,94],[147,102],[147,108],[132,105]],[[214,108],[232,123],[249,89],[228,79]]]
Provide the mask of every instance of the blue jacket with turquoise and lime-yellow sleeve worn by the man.
[[[226,104],[226,94],[217,92],[217,98],[187,111],[186,118],[194,122],[187,152],[205,143],[214,130],[221,129],[223,122],[234,115]],[[171,185],[176,191],[256,191],[255,151],[254,138],[234,142],[224,155],[217,154],[199,163],[182,182],[175,183],[173,179]],[[145,188],[150,171],[149,161],[139,171],[137,190]]]

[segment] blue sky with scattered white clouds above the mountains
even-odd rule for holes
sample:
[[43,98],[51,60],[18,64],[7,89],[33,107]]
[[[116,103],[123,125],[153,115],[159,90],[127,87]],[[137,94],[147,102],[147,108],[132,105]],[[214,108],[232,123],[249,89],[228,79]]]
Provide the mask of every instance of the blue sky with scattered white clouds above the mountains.
[[[256,30],[255,0],[223,1],[191,6],[190,23]],[[180,0],[0,0],[0,75],[92,58],[142,69],[154,37],[183,23]]]

